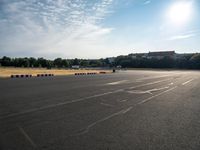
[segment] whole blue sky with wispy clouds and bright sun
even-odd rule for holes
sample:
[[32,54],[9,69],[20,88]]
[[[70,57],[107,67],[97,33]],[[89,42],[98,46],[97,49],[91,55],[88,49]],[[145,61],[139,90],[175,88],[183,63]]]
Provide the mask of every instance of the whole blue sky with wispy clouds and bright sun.
[[199,0],[0,0],[0,56],[200,52]]

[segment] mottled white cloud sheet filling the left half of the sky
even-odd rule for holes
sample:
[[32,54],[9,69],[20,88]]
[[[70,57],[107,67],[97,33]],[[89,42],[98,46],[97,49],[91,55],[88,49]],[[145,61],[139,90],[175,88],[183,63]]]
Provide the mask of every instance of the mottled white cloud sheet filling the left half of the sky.
[[[101,21],[113,0],[2,0],[0,54],[87,57],[112,28]],[[87,46],[89,45],[89,46]],[[82,50],[85,48],[85,50]],[[30,52],[31,51],[31,52]],[[91,52],[92,53],[92,52]],[[85,54],[85,55],[84,55]]]

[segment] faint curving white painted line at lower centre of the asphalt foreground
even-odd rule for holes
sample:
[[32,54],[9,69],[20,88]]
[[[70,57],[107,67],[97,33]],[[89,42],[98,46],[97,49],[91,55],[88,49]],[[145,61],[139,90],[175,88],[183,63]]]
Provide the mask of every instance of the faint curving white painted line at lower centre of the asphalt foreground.
[[96,126],[97,124],[99,124],[99,123],[101,123],[101,122],[104,122],[104,121],[106,121],[106,120],[109,120],[109,119],[111,119],[111,118],[113,118],[113,117],[115,117],[115,116],[118,116],[118,115],[121,115],[121,114],[126,114],[126,113],[129,112],[132,108],[133,108],[133,106],[131,106],[131,107],[129,107],[129,108],[126,108],[126,109],[122,109],[121,111],[118,111],[118,112],[116,112],[116,113],[113,113],[113,114],[111,114],[111,115],[105,117],[105,118],[102,118],[102,119],[100,119],[100,120],[97,120],[97,121],[95,121],[95,122],[89,124],[82,132],[79,132],[78,134],[75,134],[75,136],[86,134],[86,133],[89,132],[89,130],[90,130],[92,127]]

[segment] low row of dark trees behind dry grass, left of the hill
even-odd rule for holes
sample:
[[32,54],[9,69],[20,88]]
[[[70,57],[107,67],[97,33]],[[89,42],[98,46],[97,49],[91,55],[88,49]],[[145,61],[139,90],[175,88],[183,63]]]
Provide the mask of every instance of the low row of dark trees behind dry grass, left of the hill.
[[108,59],[62,59],[56,58],[54,60],[48,60],[44,58],[0,58],[1,66],[14,66],[14,67],[46,67],[46,68],[70,68],[73,65],[79,65],[82,67],[108,67],[110,66]]

